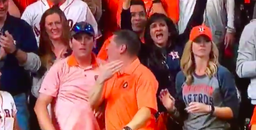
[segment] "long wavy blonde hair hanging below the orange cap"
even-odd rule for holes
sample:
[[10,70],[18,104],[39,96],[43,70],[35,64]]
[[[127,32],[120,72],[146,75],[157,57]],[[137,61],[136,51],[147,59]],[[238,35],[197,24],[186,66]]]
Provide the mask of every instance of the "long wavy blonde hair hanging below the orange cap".
[[[181,71],[183,71],[185,77],[186,77],[186,84],[191,85],[193,83],[193,73],[195,72],[196,65],[195,65],[195,58],[194,53],[192,51],[192,44],[193,41],[187,41],[185,44],[183,54],[180,60],[180,67]],[[213,75],[217,72],[217,65],[218,65],[218,58],[219,58],[219,51],[215,43],[211,43],[211,52],[209,57],[209,63],[206,69],[206,75],[210,78],[212,78]]]

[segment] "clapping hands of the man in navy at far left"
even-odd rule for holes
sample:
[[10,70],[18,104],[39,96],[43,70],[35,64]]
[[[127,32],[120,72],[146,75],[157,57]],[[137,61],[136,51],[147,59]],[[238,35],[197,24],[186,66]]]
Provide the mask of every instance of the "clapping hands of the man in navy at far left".
[[13,53],[16,50],[16,45],[12,35],[8,32],[4,32],[5,35],[0,36],[0,45],[4,48],[6,53]]

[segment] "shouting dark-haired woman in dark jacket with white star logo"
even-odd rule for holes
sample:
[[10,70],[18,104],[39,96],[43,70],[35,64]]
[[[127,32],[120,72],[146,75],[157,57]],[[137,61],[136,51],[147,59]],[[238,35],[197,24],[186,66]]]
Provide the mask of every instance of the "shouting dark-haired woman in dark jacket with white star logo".
[[[180,71],[179,60],[182,54],[183,43],[179,42],[179,35],[170,18],[164,14],[153,14],[145,25],[145,43],[141,44],[139,59],[155,75],[159,87],[157,97],[161,89],[167,89],[172,95],[176,95],[175,77]],[[157,99],[158,114],[157,130],[179,130],[174,122],[167,118],[167,111],[161,101]],[[167,120],[168,119],[168,120]],[[177,126],[177,127],[176,127]]]

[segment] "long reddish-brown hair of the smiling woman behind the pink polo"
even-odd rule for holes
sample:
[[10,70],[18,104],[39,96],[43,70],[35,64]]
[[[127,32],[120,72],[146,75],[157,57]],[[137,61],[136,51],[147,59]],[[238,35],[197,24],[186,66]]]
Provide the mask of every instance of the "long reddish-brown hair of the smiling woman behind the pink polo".
[[39,39],[39,49],[38,49],[38,55],[40,56],[40,59],[42,61],[42,66],[46,67],[48,63],[52,60],[52,41],[49,38],[48,33],[46,32],[45,28],[45,19],[47,16],[52,15],[52,14],[58,14],[60,16],[60,20],[62,23],[62,35],[61,35],[61,41],[62,43],[68,47],[68,50],[70,50],[69,46],[69,39],[70,39],[70,28],[67,22],[67,18],[60,10],[58,6],[52,6],[52,8],[49,8],[44,12],[42,15],[41,21],[40,21],[40,39]]

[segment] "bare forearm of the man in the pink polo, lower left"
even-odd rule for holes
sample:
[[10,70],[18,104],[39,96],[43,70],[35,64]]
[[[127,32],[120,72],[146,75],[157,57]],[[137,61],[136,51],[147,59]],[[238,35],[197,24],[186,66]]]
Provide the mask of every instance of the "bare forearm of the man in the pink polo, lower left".
[[35,107],[34,110],[36,112],[38,123],[42,130],[55,130],[50,120],[50,116],[47,110],[47,105],[46,106],[41,105],[39,107]]

